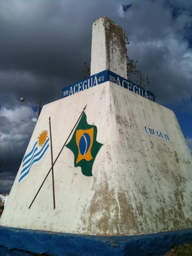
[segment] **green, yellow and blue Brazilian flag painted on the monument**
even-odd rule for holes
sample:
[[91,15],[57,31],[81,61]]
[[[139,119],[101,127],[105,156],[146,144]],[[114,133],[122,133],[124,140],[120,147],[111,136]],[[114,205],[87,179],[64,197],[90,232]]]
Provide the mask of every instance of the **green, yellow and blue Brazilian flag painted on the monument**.
[[86,114],[83,112],[82,117],[73,133],[71,141],[66,145],[75,158],[75,167],[80,166],[82,174],[93,176],[92,167],[95,157],[103,144],[96,141],[97,127],[87,124]]

